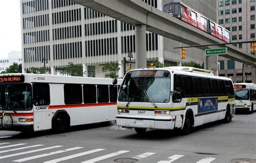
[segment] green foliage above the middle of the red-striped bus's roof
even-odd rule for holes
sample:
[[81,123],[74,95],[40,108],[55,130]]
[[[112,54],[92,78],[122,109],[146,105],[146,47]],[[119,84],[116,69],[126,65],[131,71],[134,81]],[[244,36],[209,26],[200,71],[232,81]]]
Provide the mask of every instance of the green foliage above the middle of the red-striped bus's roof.
[[63,69],[62,74],[68,74],[70,76],[83,76],[83,65],[73,64],[69,62],[69,64]]

